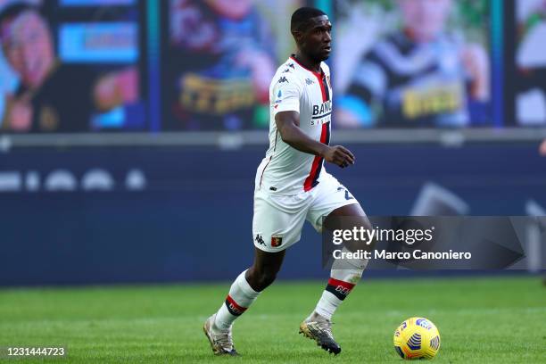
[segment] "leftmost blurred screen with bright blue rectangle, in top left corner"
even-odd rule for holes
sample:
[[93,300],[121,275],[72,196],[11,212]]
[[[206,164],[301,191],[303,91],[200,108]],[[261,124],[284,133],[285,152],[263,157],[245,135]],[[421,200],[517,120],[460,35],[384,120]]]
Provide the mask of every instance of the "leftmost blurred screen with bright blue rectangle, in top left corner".
[[144,130],[136,3],[0,0],[1,130]]

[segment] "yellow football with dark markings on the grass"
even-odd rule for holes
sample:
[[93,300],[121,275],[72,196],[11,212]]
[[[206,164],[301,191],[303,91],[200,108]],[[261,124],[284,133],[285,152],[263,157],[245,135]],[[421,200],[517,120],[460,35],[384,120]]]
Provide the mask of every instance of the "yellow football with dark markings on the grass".
[[408,318],[394,331],[394,350],[402,359],[433,359],[440,350],[440,333],[426,318]]

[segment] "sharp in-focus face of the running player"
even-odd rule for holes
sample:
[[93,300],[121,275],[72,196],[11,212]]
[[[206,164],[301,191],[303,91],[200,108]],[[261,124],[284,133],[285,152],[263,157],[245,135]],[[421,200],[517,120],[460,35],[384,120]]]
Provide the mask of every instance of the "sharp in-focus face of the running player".
[[303,29],[296,38],[302,52],[317,62],[327,60],[332,52],[332,23],[327,15],[310,19]]

